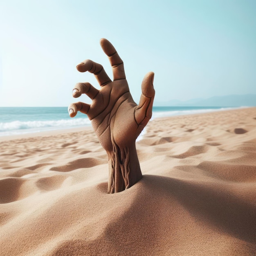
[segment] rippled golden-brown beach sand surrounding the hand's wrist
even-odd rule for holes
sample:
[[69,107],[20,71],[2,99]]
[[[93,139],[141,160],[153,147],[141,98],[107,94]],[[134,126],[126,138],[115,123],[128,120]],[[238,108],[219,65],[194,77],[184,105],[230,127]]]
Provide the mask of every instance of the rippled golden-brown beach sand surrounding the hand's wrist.
[[91,128],[0,139],[0,255],[256,255],[256,108],[155,119],[107,193]]

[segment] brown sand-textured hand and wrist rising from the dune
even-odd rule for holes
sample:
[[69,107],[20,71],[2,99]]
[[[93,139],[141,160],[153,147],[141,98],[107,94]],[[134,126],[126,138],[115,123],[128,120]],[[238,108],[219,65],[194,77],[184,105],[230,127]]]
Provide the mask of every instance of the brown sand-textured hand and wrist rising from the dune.
[[77,111],[88,115],[92,127],[103,148],[108,153],[109,182],[108,193],[128,189],[141,179],[141,170],[135,148],[135,140],[148,123],[152,115],[154,73],[146,74],[142,81],[142,94],[137,105],[130,94],[124,72],[124,63],[113,45],[101,39],[101,47],[110,60],[113,81],[106,74],[103,66],[86,60],[76,66],[80,72],[93,73],[100,90],[90,83],[77,83],[73,97],[86,94],[92,99],[91,104],[77,102],[68,107],[70,117]]

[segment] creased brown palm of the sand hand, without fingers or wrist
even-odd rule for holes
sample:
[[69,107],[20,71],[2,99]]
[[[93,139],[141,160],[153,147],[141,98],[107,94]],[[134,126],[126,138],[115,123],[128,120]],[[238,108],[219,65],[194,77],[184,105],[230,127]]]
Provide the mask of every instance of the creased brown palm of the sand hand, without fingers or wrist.
[[130,133],[137,129],[134,120],[136,106],[126,79],[105,85],[92,101],[87,115],[92,120],[94,131],[106,151],[112,150],[111,136],[119,146],[127,144],[127,138],[131,139],[129,136],[136,139],[135,132]]

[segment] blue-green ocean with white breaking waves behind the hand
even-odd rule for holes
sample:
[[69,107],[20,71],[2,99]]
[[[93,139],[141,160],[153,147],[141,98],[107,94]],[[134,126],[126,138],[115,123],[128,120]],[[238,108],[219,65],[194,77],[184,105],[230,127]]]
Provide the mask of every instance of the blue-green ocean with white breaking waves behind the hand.
[[[175,115],[190,115],[229,110],[227,107],[153,107],[152,119]],[[2,107],[0,108],[0,136],[47,130],[61,130],[90,126],[87,115],[78,113],[71,118],[67,107]]]

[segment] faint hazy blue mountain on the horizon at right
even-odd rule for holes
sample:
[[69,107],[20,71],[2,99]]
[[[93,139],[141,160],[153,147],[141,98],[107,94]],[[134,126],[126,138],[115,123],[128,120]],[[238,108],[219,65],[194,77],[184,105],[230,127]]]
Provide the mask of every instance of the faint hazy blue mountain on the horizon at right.
[[188,101],[171,100],[155,102],[154,106],[252,107],[256,106],[256,94],[214,96],[208,99],[199,98]]

